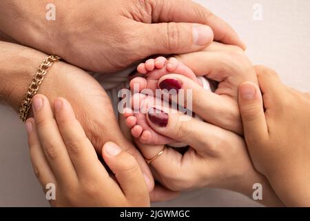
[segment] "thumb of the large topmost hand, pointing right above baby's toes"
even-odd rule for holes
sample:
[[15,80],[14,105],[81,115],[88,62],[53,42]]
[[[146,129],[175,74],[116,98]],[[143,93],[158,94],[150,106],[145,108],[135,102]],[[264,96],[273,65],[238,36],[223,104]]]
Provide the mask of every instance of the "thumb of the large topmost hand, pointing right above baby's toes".
[[142,28],[148,55],[194,52],[214,40],[211,28],[197,23],[152,23]]

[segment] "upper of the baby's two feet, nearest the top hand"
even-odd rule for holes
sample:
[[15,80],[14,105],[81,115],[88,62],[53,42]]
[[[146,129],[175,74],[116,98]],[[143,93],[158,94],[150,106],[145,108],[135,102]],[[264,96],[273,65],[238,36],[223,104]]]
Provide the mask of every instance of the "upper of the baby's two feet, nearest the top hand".
[[171,73],[184,75],[201,85],[194,72],[174,57],[170,58],[169,61],[165,57],[149,59],[145,63],[139,64],[137,70],[138,73],[145,75],[146,78],[136,77],[130,81],[130,88],[135,93],[141,92],[144,89],[150,89],[155,93],[158,79]]

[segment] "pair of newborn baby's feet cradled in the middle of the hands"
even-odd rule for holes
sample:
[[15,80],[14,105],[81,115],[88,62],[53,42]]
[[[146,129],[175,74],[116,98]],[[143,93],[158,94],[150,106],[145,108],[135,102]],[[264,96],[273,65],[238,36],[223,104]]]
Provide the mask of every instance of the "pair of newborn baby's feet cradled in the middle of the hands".
[[[138,73],[145,75],[145,78],[136,77],[130,81],[130,88],[135,93],[144,89],[150,89],[155,93],[156,88],[158,88],[158,80],[171,73],[184,75],[201,85],[194,72],[175,58],[171,58],[169,61],[165,57],[149,59],[140,64],[137,70]],[[175,140],[158,134],[147,123],[146,113],[148,109],[158,104],[169,105],[164,104],[161,99],[155,97],[139,93],[134,94],[132,96],[132,109],[126,110],[124,114],[126,124],[131,129],[132,135],[143,144],[174,144],[176,143]]]

